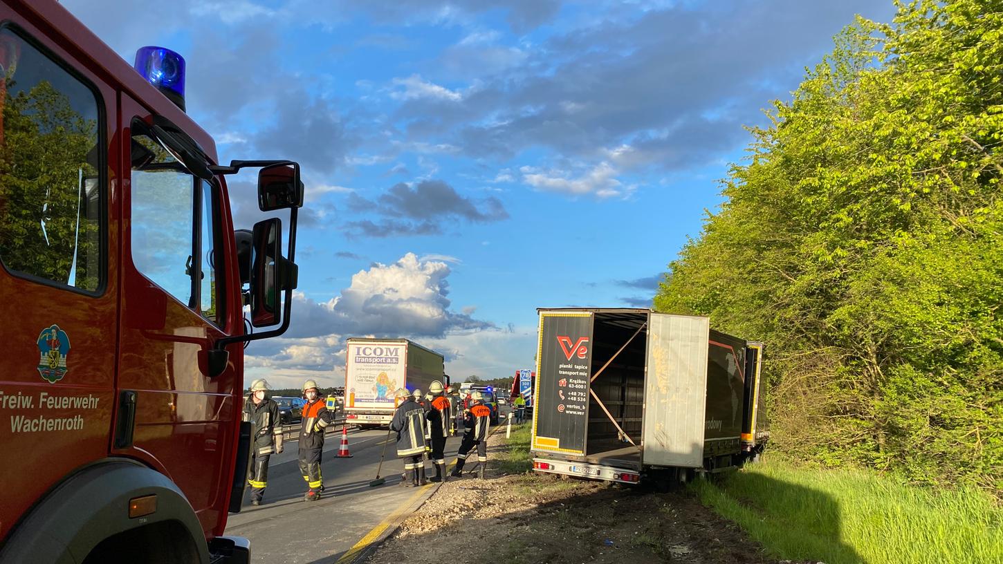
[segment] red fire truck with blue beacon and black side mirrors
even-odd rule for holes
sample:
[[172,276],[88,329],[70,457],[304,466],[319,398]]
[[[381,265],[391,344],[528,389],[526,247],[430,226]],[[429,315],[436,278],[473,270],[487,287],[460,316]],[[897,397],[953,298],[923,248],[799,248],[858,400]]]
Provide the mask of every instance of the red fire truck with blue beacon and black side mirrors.
[[[0,0],[2,563],[250,558],[223,536],[244,345],[289,326],[303,185],[292,161],[220,164],[184,71]],[[286,248],[278,217],[235,230],[225,176],[249,167]]]

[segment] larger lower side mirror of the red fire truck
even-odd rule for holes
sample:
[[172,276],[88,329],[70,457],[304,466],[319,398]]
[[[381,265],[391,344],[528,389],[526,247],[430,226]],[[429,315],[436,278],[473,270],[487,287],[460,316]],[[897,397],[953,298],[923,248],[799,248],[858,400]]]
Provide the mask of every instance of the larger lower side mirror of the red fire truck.
[[269,327],[282,322],[280,263],[282,221],[278,217],[258,221],[254,226],[251,259],[251,325]]

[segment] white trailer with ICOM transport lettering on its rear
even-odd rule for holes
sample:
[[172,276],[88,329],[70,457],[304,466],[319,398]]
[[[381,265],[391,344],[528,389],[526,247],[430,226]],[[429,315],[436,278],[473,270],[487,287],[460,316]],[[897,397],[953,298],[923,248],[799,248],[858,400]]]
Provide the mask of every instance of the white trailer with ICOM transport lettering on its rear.
[[345,348],[345,419],[359,426],[388,425],[400,388],[428,391],[448,386],[442,355],[407,339],[352,338]]

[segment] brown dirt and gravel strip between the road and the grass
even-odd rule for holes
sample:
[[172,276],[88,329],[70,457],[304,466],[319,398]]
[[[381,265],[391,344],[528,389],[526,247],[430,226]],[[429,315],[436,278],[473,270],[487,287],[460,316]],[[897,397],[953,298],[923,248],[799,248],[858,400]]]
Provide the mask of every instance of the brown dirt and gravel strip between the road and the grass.
[[[488,460],[508,445],[491,437]],[[687,492],[535,473],[450,479],[366,562],[775,563]]]

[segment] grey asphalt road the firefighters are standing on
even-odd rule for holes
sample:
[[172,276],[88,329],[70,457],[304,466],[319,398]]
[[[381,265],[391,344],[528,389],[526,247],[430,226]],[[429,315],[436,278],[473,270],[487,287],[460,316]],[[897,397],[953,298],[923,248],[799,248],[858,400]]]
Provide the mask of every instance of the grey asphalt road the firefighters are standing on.
[[[353,545],[381,525],[398,508],[415,500],[414,488],[401,488],[403,465],[394,451],[395,435],[386,445],[386,459],[380,475],[386,484],[375,488],[385,430],[349,430],[352,458],[336,458],[340,433],[330,435],[324,445],[321,476],[324,497],[303,501],[307,486],[297,465],[297,443],[287,441],[281,455],[273,455],[269,465],[268,488],[262,505],[251,505],[250,489],[245,492],[244,509],[232,514],[228,535],[250,539],[253,562],[269,564],[320,564],[337,562]],[[446,464],[456,459],[459,436],[446,442]],[[434,476],[431,462],[426,472]],[[399,513],[399,512],[398,512]]]

